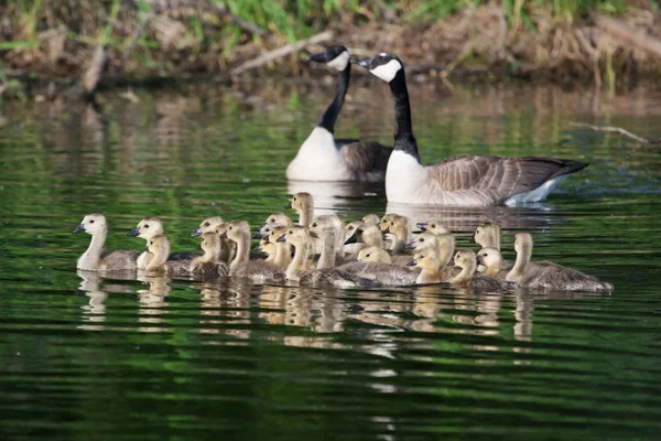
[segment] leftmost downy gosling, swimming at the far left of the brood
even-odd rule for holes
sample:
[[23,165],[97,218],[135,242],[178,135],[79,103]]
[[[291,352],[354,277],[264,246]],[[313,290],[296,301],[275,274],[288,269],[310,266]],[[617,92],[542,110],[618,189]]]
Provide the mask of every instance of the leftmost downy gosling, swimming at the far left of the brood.
[[128,249],[104,251],[104,244],[108,236],[106,216],[102,214],[86,215],[83,217],[80,225],[72,233],[77,234],[83,232],[91,235],[91,240],[87,250],[78,258],[78,262],[76,263],[77,269],[87,271],[136,270],[136,261],[140,252]]

